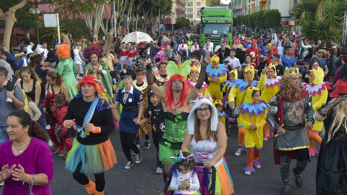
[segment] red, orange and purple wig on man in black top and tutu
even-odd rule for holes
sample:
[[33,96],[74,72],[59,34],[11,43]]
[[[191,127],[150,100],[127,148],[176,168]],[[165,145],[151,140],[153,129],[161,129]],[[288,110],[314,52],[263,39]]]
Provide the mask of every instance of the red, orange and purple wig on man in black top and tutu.
[[100,97],[100,100],[98,102],[98,110],[103,110],[105,108],[110,108],[110,100],[108,98],[108,95],[104,92],[100,81],[89,75],[89,76],[83,76],[82,80],[77,84],[77,94],[75,97],[81,97],[82,92],[81,92],[81,86],[82,85],[93,85],[95,90],[96,90],[96,95]]

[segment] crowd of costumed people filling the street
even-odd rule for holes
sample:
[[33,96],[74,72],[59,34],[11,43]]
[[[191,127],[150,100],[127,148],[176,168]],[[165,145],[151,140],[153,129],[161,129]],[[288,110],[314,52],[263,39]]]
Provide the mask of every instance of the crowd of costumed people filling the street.
[[171,181],[171,193],[209,194],[214,166],[215,193],[233,194],[229,125],[238,128],[235,156],[247,154],[246,175],[261,168],[263,142],[273,139],[281,194],[290,192],[291,160],[301,188],[317,153],[316,193],[347,193],[347,46],[296,32],[239,31],[219,43],[201,42],[193,28],[150,35],[139,43],[123,42],[125,35],[74,42],[68,33],[51,49],[24,37],[18,54],[0,45],[3,194],[50,194],[58,150],[88,194],[103,194],[104,172],[117,163],[115,129],[124,169],[141,163],[152,134],[153,169]]

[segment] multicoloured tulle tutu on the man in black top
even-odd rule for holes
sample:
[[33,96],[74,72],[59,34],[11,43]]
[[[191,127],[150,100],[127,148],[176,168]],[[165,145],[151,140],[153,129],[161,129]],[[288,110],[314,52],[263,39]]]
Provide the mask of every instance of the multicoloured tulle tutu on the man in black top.
[[81,173],[98,174],[112,168],[117,159],[110,139],[96,145],[83,145],[75,138],[67,154],[65,169],[75,172],[80,162],[82,162]]

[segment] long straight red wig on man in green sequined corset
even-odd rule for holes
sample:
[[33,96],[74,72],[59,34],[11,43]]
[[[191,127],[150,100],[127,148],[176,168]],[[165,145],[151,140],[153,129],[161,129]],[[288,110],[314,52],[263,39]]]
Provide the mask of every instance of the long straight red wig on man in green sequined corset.
[[165,102],[165,107],[169,106],[171,112],[174,112],[174,110],[172,110],[172,104],[174,104],[174,95],[173,95],[172,89],[171,89],[171,86],[172,86],[171,83],[172,83],[173,80],[179,80],[179,81],[181,81],[183,83],[182,94],[179,97],[179,100],[175,104],[175,106],[178,105],[178,107],[183,107],[184,104],[185,104],[187,93],[188,93],[187,85],[185,84],[185,79],[183,78],[183,76],[178,75],[178,74],[172,75],[170,77],[170,80],[169,80],[168,84],[166,85],[166,102]]

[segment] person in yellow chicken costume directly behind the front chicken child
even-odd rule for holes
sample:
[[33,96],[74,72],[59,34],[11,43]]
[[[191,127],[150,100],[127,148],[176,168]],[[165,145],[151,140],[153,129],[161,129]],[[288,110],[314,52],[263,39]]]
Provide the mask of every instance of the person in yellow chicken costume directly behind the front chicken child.
[[[236,97],[236,107],[247,102],[247,97],[245,95],[245,89],[248,85],[256,86],[257,88],[262,88],[265,84],[266,72],[268,71],[265,67],[260,76],[260,80],[253,80],[254,78],[254,67],[249,65],[245,68],[243,75],[244,79],[234,79],[233,81],[227,81],[226,84],[229,84],[231,87],[230,93],[228,95],[229,107],[230,109],[235,108],[235,97]],[[238,141],[239,146],[235,152],[236,156],[241,154],[241,151],[245,149],[245,128],[244,124],[240,121],[240,117],[237,117],[238,125]]]

